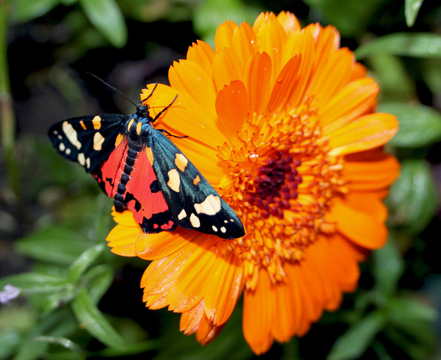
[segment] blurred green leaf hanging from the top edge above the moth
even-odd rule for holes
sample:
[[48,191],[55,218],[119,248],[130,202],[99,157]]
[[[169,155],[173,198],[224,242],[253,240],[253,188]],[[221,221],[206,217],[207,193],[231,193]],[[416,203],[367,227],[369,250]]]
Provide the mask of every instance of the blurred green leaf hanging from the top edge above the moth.
[[114,47],[127,43],[127,25],[114,0],[79,0],[85,15]]

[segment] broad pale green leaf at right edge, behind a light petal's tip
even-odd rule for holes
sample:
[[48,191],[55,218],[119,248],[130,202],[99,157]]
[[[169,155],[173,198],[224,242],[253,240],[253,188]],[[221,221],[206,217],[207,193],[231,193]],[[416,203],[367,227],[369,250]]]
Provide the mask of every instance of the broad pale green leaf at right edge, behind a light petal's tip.
[[389,141],[394,147],[427,147],[441,140],[441,114],[424,105],[383,103],[378,112],[397,117],[400,125],[397,134]]

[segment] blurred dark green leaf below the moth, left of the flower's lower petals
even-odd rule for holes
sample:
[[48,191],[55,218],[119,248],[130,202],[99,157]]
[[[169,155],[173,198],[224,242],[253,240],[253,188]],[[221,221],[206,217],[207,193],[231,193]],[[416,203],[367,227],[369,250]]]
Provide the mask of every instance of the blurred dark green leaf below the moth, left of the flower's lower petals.
[[71,264],[90,246],[90,241],[70,229],[53,226],[16,242],[16,250],[37,260]]

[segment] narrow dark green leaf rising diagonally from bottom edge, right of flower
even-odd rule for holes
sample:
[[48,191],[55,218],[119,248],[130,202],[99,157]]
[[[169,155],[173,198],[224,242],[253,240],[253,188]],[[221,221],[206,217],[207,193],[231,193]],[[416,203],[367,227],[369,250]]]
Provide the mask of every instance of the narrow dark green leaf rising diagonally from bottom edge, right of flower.
[[349,329],[340,336],[331,348],[327,360],[345,360],[360,357],[378,332],[384,327],[386,320],[379,311],[370,313],[364,319],[351,325]]

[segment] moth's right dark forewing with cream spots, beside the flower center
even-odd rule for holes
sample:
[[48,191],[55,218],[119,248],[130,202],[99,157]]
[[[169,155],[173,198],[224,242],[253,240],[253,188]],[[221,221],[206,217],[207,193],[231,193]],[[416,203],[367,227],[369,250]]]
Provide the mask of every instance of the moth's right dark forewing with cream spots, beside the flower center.
[[196,167],[161,131],[153,129],[147,152],[174,221],[184,229],[235,239],[243,224]]

